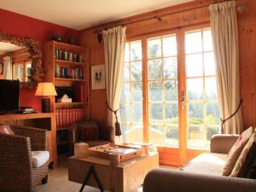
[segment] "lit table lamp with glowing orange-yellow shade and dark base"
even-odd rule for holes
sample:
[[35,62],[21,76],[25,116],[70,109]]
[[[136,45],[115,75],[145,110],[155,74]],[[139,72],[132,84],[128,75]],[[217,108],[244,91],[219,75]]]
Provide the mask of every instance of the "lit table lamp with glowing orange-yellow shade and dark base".
[[36,96],[43,96],[41,100],[42,113],[50,112],[50,97],[57,96],[53,83],[39,83]]

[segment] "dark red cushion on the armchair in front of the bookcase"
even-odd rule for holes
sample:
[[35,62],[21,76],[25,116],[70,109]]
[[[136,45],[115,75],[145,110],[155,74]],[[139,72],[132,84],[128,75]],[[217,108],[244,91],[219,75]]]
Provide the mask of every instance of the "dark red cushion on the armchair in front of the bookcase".
[[80,140],[81,141],[91,141],[98,139],[98,127],[95,122],[88,121],[79,125],[80,133]]

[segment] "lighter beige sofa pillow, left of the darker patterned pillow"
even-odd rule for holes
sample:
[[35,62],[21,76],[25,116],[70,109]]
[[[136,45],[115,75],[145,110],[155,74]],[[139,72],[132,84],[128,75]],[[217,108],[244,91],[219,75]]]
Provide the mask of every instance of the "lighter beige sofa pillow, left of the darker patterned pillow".
[[228,154],[224,166],[222,168],[222,175],[229,176],[232,172],[234,166],[236,165],[236,160],[241,154],[242,148],[246,145],[249,138],[253,135],[254,129],[253,127],[249,127],[246,131],[243,131],[241,135],[238,137],[236,143],[230,149],[230,153]]

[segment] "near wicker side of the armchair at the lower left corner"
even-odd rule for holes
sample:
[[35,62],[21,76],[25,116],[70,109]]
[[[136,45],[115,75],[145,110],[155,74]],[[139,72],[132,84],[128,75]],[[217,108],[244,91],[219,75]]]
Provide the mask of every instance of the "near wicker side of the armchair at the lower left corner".
[[0,191],[31,191],[31,173],[30,139],[0,134]]

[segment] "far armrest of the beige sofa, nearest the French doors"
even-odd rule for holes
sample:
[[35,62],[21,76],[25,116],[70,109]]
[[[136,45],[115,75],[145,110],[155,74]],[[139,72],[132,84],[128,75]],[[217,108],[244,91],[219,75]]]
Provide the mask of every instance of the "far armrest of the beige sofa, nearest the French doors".
[[211,139],[211,153],[228,154],[236,143],[238,135],[214,135]]

